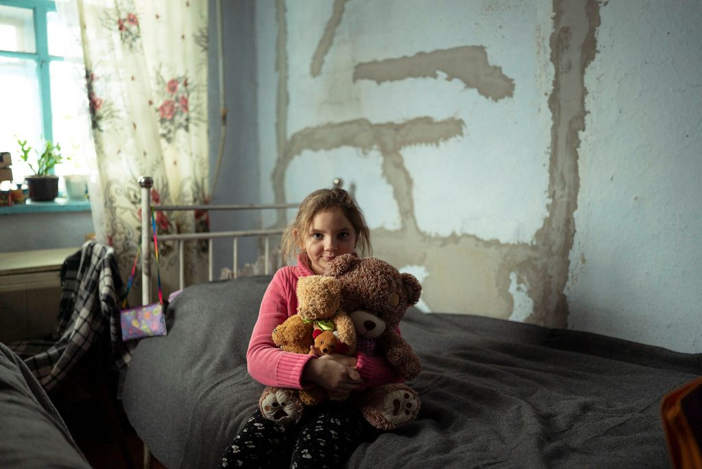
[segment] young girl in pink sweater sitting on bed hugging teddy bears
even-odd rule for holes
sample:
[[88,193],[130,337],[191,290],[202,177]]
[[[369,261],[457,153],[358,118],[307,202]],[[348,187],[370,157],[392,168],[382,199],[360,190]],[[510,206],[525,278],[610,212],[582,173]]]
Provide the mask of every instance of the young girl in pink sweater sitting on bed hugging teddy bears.
[[[318,385],[336,394],[400,381],[382,357],[362,352],[355,357],[284,352],[271,338],[273,329],[297,312],[299,277],[323,274],[341,254],[371,253],[366,220],[351,195],[340,188],[308,195],[286,227],[282,251],[285,256],[297,254],[298,263],[278,270],[263,296],[246,353],[249,374],[263,385],[293,389]],[[374,433],[360,411],[345,402],[324,402],[286,426],[256,409],[225,450],[220,467],[339,468]]]

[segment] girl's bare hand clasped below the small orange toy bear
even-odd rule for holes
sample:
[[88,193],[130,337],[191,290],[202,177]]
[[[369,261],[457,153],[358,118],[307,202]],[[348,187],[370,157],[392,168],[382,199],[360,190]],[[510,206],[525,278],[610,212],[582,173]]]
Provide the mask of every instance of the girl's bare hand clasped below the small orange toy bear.
[[351,392],[363,383],[356,369],[356,358],[338,353],[308,361],[303,371],[303,379],[335,394]]

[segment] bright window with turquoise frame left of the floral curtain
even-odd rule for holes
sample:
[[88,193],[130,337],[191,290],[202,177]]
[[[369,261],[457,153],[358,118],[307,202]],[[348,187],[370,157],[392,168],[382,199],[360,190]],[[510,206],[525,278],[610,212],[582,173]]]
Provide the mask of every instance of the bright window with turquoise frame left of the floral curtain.
[[32,174],[18,139],[33,148],[60,144],[58,176],[84,173],[86,152],[93,151],[80,32],[60,14],[67,4],[0,0],[0,151],[11,153],[18,184]]

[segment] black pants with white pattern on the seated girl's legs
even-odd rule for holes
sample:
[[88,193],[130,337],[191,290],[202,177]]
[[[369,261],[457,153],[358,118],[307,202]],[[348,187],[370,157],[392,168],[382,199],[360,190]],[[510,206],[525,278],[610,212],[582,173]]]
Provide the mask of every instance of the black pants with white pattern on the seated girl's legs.
[[220,468],[339,469],[376,430],[346,403],[325,402],[307,409],[300,423],[283,426],[256,409],[225,449]]

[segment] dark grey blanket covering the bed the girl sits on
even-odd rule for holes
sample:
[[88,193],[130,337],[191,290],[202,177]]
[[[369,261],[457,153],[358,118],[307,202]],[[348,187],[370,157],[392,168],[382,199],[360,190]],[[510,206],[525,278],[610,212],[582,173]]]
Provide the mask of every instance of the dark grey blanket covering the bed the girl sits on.
[[[256,409],[245,354],[269,281],[188,287],[168,336],[133,352],[124,407],[168,468],[216,467]],[[702,374],[702,354],[499,319],[410,310],[401,329],[423,361],[419,418],[347,467],[668,467],[661,398]]]

